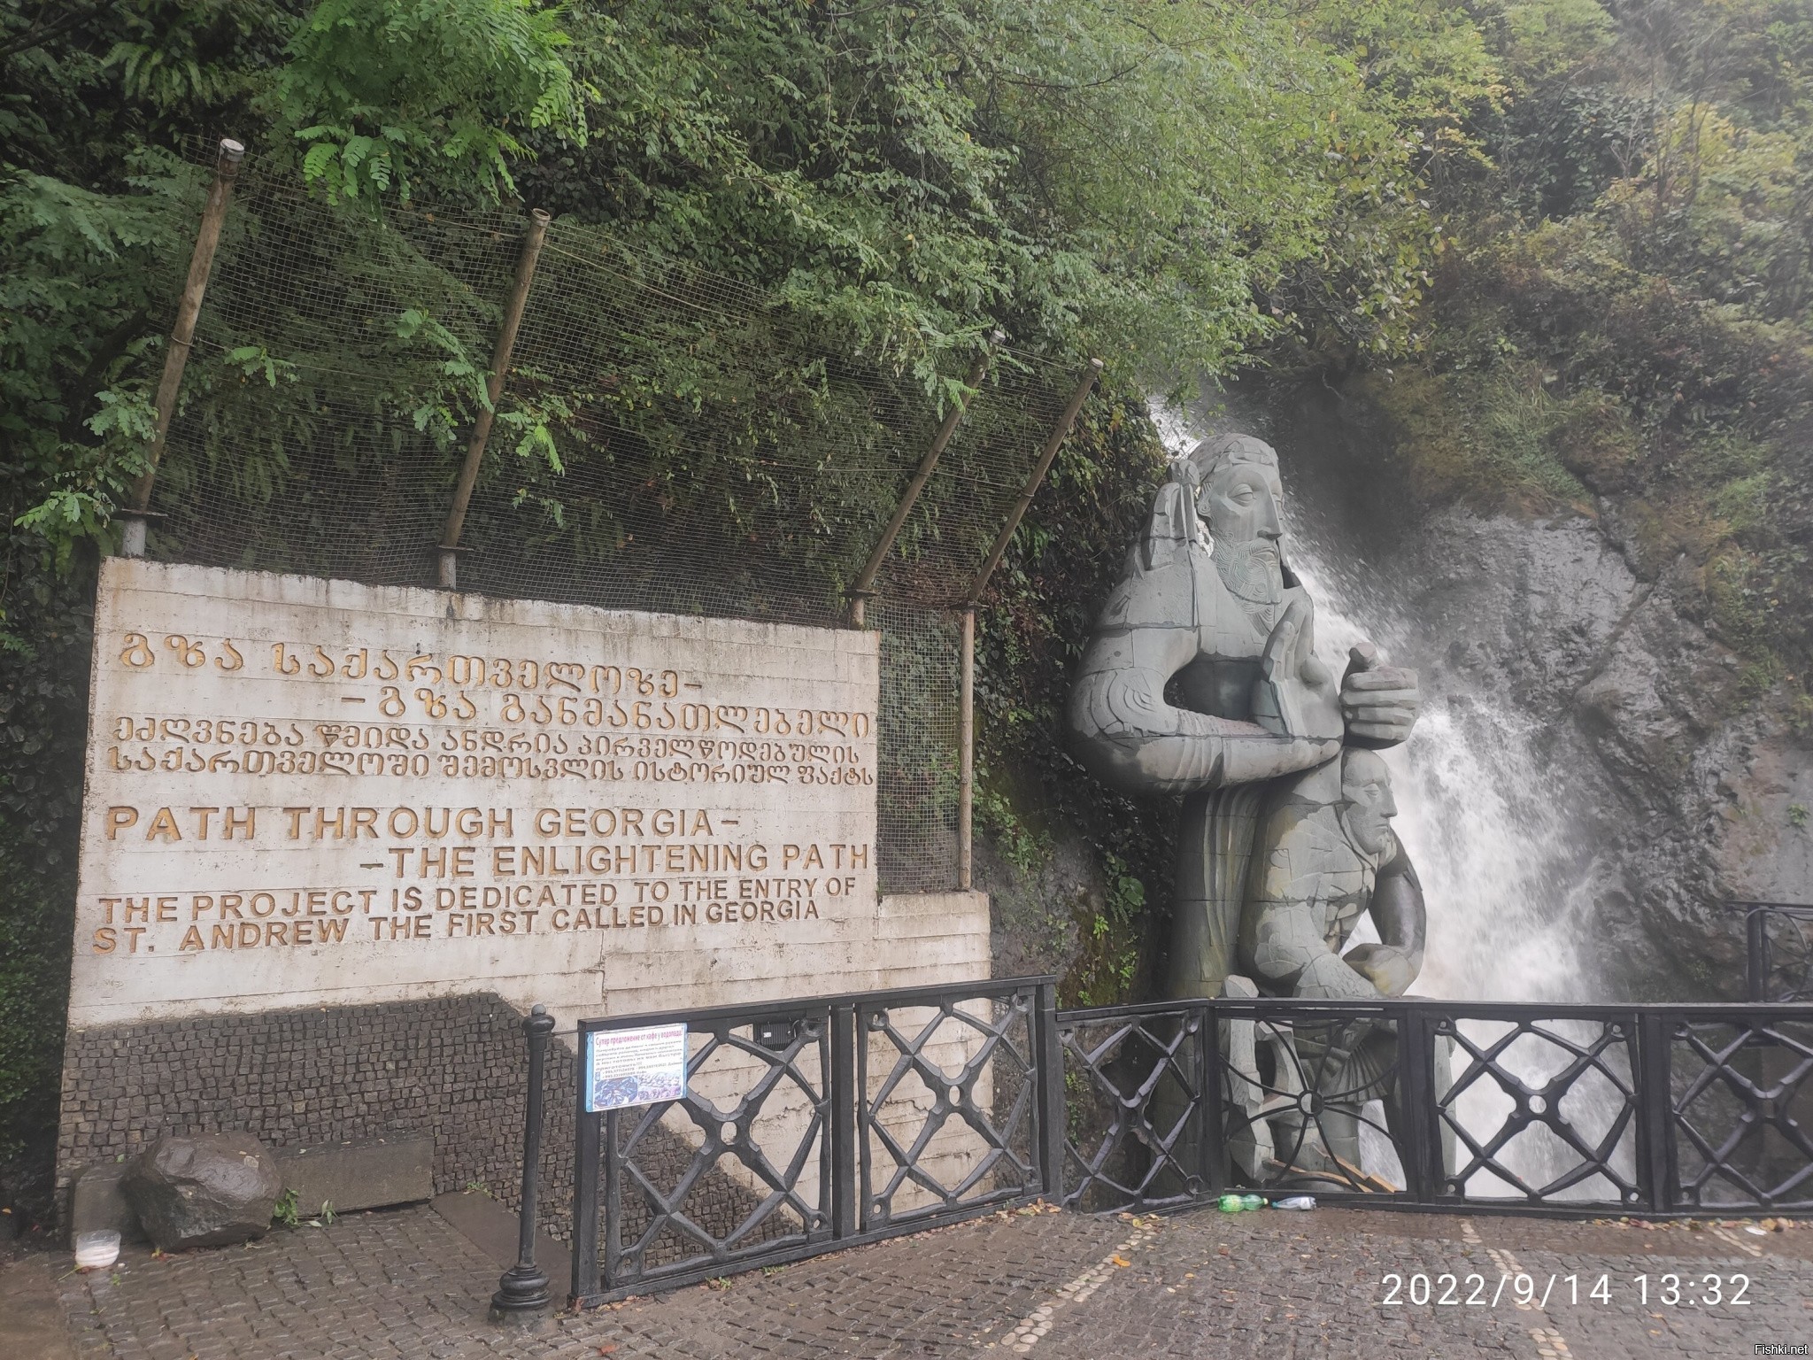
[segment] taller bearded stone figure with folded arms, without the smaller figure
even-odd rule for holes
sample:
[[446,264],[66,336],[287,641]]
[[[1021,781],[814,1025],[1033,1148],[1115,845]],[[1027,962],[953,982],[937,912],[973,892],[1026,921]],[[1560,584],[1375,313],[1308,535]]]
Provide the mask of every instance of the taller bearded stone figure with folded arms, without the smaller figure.
[[[1334,976],[1376,972],[1394,992],[1414,977],[1414,968],[1403,976],[1403,950],[1389,968],[1336,956],[1267,972],[1238,957],[1260,823],[1343,749],[1403,742],[1420,705],[1416,673],[1382,665],[1371,646],[1351,653],[1340,684],[1316,658],[1314,602],[1285,560],[1282,502],[1278,455],[1260,439],[1224,435],[1175,459],[1070,693],[1073,751],[1097,778],[1126,792],[1184,794],[1171,999],[1220,996],[1242,963],[1282,996],[1336,965]],[[1414,918],[1420,937],[1420,892]]]

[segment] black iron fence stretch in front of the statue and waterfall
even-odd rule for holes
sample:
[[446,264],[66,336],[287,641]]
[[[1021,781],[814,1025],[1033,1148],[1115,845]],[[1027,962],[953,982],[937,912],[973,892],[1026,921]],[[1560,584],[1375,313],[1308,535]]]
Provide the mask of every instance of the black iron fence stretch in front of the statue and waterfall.
[[1813,1211],[1813,1006],[1217,999],[1057,1021],[1070,1208],[1247,1188],[1469,1211]]

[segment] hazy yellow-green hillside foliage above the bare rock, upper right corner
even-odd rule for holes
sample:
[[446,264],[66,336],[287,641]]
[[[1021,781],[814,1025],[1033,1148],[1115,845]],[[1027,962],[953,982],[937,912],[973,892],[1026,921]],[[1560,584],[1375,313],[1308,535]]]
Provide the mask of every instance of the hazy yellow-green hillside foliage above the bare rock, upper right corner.
[[1615,504],[1639,573],[1670,571],[1744,656],[1740,698],[1798,685],[1813,5],[1543,0],[1499,18],[1496,170],[1449,201],[1467,227],[1421,363],[1360,390],[1421,491]]

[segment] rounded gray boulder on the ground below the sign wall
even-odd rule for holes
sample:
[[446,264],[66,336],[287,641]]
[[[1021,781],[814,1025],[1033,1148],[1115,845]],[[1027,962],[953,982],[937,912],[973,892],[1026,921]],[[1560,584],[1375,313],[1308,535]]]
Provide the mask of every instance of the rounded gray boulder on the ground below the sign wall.
[[270,1231],[283,1177],[250,1133],[165,1135],[123,1182],[145,1235],[165,1251],[250,1242]]

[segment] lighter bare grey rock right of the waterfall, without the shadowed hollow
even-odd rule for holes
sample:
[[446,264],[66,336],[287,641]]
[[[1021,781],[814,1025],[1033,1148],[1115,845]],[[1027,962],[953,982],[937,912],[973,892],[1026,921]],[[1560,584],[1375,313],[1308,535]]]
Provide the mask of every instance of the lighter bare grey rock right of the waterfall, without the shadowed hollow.
[[[1813,753],[1643,580],[1615,520],[1434,515],[1401,566],[1432,695],[1519,707],[1581,847],[1586,957],[1615,996],[1737,996],[1731,898],[1813,899]],[[1421,644],[1421,646],[1416,646]]]

